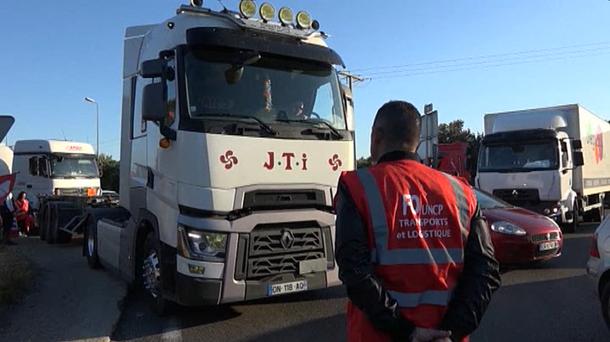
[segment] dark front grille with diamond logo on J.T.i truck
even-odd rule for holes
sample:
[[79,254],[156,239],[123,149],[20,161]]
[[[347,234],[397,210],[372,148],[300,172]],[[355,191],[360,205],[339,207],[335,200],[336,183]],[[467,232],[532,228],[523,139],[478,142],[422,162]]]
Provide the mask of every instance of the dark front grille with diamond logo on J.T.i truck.
[[[302,225],[301,225],[302,226]],[[326,259],[334,267],[330,228],[273,227],[240,234],[235,279],[298,274],[301,261]]]

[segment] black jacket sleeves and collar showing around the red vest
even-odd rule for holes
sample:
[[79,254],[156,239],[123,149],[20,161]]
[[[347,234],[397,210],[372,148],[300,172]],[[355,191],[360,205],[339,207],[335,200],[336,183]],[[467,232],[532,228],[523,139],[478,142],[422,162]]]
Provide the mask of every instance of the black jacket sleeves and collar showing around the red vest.
[[[417,160],[417,155],[391,152],[384,155],[380,163],[401,159]],[[377,329],[396,341],[408,340],[415,327],[400,315],[396,301],[376,277],[364,221],[343,184],[339,184],[336,203],[335,251],[339,277],[347,288],[347,296]],[[487,223],[477,209],[465,245],[464,270],[438,328],[450,330],[455,340],[470,335],[479,326],[491,294],[499,286],[499,264],[494,256]]]

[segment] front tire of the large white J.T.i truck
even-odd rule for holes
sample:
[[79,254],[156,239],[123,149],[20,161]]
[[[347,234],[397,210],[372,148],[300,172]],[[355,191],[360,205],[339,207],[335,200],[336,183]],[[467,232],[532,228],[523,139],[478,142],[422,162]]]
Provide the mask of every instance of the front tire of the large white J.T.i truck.
[[154,232],[148,233],[138,262],[141,288],[153,311],[159,316],[169,313],[170,303],[163,298],[159,239]]

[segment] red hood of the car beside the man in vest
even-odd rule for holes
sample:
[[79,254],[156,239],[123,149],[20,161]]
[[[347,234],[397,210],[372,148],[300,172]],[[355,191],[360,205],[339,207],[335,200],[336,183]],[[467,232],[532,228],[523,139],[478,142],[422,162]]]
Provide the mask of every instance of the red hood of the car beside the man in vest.
[[545,216],[523,208],[483,209],[482,211],[489,224],[508,221],[523,228],[530,235],[559,229],[555,223]]

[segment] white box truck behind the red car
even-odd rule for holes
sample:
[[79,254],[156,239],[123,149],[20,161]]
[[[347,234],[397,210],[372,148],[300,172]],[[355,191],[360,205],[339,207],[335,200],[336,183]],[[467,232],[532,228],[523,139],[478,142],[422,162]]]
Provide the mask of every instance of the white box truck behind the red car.
[[485,115],[477,187],[555,219],[600,221],[610,191],[610,124],[580,105]]

